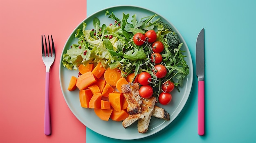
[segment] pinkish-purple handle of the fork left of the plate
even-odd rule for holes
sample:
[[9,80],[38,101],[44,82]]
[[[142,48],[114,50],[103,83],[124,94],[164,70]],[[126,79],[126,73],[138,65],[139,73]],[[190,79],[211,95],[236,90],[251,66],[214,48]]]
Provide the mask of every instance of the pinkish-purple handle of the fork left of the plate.
[[51,118],[49,108],[49,72],[45,75],[45,134],[51,134]]

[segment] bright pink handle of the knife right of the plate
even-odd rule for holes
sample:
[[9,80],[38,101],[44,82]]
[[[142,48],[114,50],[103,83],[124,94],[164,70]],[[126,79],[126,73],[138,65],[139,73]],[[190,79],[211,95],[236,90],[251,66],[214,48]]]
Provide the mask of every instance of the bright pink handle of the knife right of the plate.
[[198,81],[198,134],[204,135],[204,81]]

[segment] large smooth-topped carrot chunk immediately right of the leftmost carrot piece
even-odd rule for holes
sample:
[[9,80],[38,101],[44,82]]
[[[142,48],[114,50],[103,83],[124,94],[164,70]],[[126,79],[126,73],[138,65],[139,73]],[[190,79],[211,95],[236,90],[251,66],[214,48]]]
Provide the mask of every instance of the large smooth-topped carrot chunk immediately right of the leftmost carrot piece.
[[76,87],[79,88],[79,90],[83,90],[96,82],[97,79],[94,77],[92,72],[87,72],[77,78]]

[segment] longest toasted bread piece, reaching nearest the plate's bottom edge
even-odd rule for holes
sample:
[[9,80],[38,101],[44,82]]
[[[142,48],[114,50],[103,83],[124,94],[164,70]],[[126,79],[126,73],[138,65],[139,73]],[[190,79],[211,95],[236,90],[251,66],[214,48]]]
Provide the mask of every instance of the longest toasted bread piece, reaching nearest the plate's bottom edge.
[[141,103],[141,114],[145,117],[138,121],[138,132],[146,133],[148,131],[148,125],[155,108],[155,97],[150,97],[148,99],[143,99]]

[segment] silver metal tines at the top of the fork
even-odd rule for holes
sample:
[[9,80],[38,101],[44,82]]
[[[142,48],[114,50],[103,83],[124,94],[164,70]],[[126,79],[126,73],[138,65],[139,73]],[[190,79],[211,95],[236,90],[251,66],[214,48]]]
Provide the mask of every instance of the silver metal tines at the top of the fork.
[[[50,39],[49,39],[49,35],[48,35],[48,45],[49,45],[49,53],[48,53],[48,47],[47,47],[47,41],[46,41],[46,37],[44,35],[44,39],[45,42],[43,40],[43,35],[42,35],[42,56],[43,57],[52,57],[55,56],[55,48],[54,48],[54,42],[52,39],[52,35],[51,35],[51,39],[52,39],[52,50],[51,50],[51,44],[50,44]],[[45,43],[45,46],[44,46]]]

